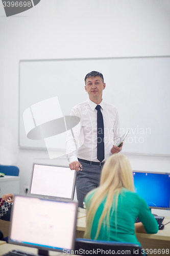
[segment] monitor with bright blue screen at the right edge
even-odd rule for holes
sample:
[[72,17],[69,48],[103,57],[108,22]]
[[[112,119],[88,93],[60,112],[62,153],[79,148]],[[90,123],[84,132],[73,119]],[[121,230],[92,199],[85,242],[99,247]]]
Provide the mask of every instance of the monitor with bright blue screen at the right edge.
[[150,208],[170,208],[170,173],[133,171],[135,192]]

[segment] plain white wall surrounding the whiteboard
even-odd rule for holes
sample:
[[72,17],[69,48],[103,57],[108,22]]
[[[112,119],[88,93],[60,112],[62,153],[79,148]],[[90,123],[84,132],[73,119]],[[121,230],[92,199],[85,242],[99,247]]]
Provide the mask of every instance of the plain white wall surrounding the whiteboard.
[[[41,0],[6,17],[0,3],[0,163],[19,167],[20,193],[30,182],[34,159],[48,155],[18,148],[19,60],[167,56],[169,13],[169,0]],[[128,157],[133,169],[170,172],[169,157]]]

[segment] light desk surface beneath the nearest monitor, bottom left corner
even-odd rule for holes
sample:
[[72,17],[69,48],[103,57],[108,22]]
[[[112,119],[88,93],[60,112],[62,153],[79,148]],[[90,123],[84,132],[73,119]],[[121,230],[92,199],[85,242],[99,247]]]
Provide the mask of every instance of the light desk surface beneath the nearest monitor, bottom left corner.
[[[0,244],[0,256],[11,251],[11,250],[22,250],[22,251],[27,251],[31,253],[38,253],[38,250],[33,247],[27,247],[27,246],[20,246],[20,245],[14,245],[14,244]],[[50,256],[59,256],[61,255],[61,252],[57,251],[49,251]]]

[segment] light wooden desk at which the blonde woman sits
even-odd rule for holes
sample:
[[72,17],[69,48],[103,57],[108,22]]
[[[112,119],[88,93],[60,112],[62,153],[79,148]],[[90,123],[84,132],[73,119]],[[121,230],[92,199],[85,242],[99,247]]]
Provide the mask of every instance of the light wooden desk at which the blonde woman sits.
[[[170,217],[165,217],[163,224],[170,221]],[[86,217],[82,217],[77,220],[76,237],[83,238],[84,231],[86,230]],[[159,230],[157,234],[145,234],[136,233],[138,241],[141,243],[144,249],[169,249],[169,254],[164,253],[164,255],[170,255],[170,223],[164,226],[163,230]],[[148,255],[160,256],[163,253],[148,253]]]

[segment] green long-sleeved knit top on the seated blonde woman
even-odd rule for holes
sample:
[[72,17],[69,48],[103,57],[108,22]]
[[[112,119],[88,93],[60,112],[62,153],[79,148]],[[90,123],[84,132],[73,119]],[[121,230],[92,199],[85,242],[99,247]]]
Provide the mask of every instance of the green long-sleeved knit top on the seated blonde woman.
[[[96,193],[97,190],[94,191]],[[87,211],[89,208],[89,200],[94,195],[86,196],[85,203]],[[106,198],[99,205],[96,211],[94,220],[91,228],[91,239],[95,238],[96,230],[98,228],[98,222],[102,215]],[[115,211],[112,211],[114,207],[114,199],[110,211],[110,224],[107,223],[106,218],[104,219],[99,237],[97,240],[103,241],[119,241],[129,243],[140,243],[137,241],[135,234],[135,220],[139,217],[143,223],[147,233],[157,233],[158,224],[154,216],[151,214],[151,210],[145,200],[138,196],[136,193],[131,192],[128,189],[123,188],[120,195],[118,196],[117,214],[115,219]]]

